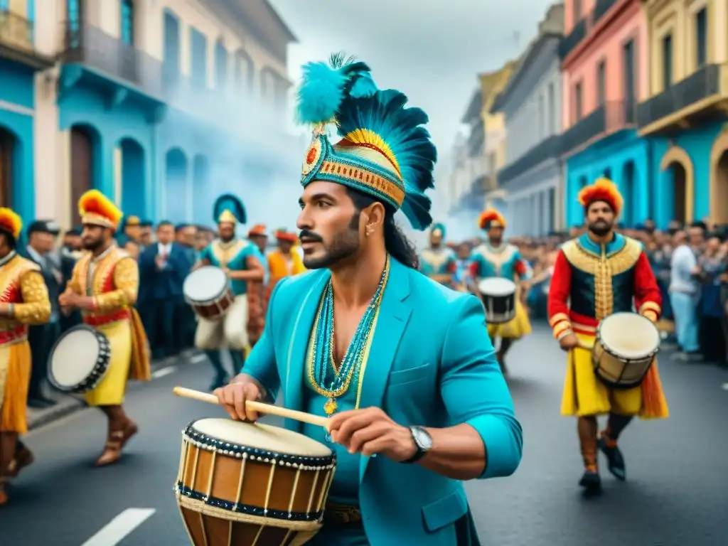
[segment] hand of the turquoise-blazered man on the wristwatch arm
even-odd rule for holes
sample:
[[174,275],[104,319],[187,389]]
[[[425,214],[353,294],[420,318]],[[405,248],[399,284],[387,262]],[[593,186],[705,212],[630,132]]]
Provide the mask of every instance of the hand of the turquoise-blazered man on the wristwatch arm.
[[342,411],[331,417],[331,439],[349,453],[381,454],[392,461],[411,459],[417,452],[412,433],[395,423],[380,408]]

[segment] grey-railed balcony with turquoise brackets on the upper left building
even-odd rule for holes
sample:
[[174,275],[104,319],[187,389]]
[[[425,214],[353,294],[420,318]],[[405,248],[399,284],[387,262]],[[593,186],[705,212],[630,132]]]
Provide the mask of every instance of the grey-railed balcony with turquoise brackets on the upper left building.
[[92,25],[65,26],[61,60],[74,70],[66,70],[64,87],[73,87],[85,78],[110,88],[115,101],[124,100],[132,92],[152,102],[162,102],[159,60]]

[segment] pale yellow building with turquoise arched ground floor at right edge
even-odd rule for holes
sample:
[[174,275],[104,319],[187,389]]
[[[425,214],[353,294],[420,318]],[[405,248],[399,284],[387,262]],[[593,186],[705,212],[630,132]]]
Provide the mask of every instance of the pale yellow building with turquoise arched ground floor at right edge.
[[642,7],[649,98],[637,122],[655,139],[655,220],[728,223],[728,4],[647,0]]

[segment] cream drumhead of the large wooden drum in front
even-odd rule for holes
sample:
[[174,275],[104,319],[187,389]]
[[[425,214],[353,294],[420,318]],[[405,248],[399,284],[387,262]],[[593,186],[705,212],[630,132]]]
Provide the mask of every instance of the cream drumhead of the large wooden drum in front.
[[250,424],[230,419],[200,419],[192,424],[202,434],[254,449],[308,457],[331,456],[331,449],[298,432],[269,424]]

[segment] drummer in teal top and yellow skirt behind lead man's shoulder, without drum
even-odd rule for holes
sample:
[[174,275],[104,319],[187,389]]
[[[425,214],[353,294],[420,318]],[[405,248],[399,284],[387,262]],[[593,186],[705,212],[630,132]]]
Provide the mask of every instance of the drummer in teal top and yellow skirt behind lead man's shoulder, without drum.
[[478,293],[478,280],[491,277],[500,277],[515,282],[517,288],[515,299],[515,317],[505,324],[488,324],[488,335],[495,343],[500,338],[498,348],[498,363],[503,373],[507,373],[505,367],[505,355],[510,349],[513,341],[521,339],[531,333],[531,322],[523,299],[526,290],[520,285],[526,281],[529,268],[521,256],[521,251],[515,245],[503,241],[505,232],[505,218],[494,209],[484,210],[478,218],[480,229],[486,230],[488,241],[478,245],[472,250],[470,256],[470,272],[474,280],[471,290]]

